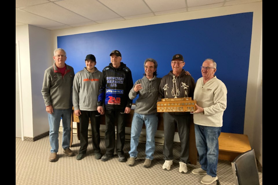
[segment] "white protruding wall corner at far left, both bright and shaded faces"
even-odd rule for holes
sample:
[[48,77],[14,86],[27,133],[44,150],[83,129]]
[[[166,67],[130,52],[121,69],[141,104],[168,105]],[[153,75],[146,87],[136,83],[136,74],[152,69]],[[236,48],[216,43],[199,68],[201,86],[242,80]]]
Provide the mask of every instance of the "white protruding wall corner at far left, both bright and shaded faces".
[[32,138],[49,131],[41,88],[44,70],[53,63],[51,31],[32,25],[16,26],[16,43],[23,136]]

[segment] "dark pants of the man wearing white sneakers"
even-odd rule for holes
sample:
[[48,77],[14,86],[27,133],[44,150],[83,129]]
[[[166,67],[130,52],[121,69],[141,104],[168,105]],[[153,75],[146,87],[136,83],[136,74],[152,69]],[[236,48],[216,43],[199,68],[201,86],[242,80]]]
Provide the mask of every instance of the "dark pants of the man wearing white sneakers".
[[178,133],[180,137],[180,162],[188,163],[189,157],[189,127],[190,114],[173,115],[163,113],[164,125],[164,160],[173,160],[173,144],[175,136],[175,123],[177,123]]

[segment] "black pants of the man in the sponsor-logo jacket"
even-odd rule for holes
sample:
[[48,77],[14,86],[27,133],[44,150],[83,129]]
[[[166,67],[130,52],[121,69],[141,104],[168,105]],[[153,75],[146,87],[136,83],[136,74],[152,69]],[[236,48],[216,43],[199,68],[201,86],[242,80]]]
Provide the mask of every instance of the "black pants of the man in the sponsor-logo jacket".
[[125,145],[125,110],[105,110],[105,147],[107,154],[114,154],[115,149],[115,123],[117,125],[117,155],[124,154]]

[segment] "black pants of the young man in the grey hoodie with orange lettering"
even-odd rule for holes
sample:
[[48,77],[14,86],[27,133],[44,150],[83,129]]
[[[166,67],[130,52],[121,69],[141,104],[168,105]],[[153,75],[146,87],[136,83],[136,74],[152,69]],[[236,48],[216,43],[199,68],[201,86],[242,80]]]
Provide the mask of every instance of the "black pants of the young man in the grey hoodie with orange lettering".
[[92,143],[94,153],[100,153],[100,135],[99,135],[99,127],[100,127],[100,114],[98,111],[87,111],[80,110],[81,115],[79,116],[80,121],[80,149],[79,153],[86,153],[88,147],[88,126],[89,126],[89,118],[91,120],[92,127]]

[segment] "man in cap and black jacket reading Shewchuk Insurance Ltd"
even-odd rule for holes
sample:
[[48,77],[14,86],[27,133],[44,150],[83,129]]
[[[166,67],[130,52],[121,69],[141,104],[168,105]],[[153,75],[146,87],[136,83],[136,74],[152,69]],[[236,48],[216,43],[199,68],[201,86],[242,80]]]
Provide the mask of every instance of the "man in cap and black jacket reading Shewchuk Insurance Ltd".
[[[125,144],[125,114],[131,111],[132,100],[128,94],[133,87],[130,69],[121,62],[122,54],[118,50],[110,53],[111,63],[103,69],[103,78],[99,84],[98,112],[105,113],[105,147],[102,161],[114,156],[115,123],[117,125],[116,153],[120,162],[126,162],[123,147]],[[103,106],[105,109],[103,109]]]

